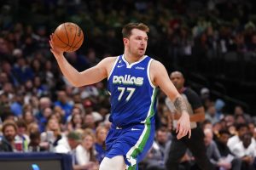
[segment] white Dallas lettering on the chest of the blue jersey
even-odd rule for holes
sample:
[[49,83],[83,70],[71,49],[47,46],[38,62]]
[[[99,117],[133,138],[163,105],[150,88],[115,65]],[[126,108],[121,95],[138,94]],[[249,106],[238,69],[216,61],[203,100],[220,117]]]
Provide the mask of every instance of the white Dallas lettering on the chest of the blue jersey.
[[124,85],[143,85],[143,77],[131,77],[131,75],[113,76],[113,84],[124,84]]

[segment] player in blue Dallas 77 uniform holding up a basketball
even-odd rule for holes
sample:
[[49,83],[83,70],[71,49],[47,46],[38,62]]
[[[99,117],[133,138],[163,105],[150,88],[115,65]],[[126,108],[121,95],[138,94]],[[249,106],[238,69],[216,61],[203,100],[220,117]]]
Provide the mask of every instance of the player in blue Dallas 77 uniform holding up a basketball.
[[191,135],[189,113],[168,77],[166,68],[159,61],[145,54],[148,45],[148,26],[130,23],[124,26],[124,54],[102,59],[96,66],[83,72],[76,71],[63,56],[50,36],[51,52],[62,73],[73,86],[80,87],[102,81],[108,77],[111,94],[112,126],[106,146],[107,153],[100,170],[137,169],[154,140],[154,113],[157,87],[172,100],[182,115],[177,122],[177,139]]

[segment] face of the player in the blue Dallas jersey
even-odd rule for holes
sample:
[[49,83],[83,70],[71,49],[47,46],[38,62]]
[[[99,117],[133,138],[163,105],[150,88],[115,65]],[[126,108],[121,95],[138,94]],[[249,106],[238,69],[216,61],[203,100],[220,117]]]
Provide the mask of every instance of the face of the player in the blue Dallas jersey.
[[148,35],[145,31],[133,29],[127,39],[126,47],[132,55],[143,56],[148,46]]

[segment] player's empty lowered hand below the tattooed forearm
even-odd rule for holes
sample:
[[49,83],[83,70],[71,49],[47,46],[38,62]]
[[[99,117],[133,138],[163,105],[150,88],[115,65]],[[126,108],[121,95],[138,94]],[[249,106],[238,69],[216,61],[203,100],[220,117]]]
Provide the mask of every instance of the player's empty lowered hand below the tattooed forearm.
[[181,139],[189,133],[189,139],[191,137],[191,127],[189,120],[189,113],[183,112],[182,116],[177,121],[177,139]]

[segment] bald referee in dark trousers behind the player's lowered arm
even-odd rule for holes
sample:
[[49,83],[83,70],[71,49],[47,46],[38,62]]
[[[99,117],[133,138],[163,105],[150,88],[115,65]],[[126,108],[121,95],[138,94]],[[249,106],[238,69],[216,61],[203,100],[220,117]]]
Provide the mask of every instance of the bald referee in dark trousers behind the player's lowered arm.
[[[198,124],[198,122],[203,122],[205,120],[205,110],[201,104],[201,99],[194,90],[184,87],[185,79],[180,71],[173,71],[170,74],[170,78],[178,92],[182,94],[186,105],[188,105],[190,127],[193,135],[191,139],[186,137],[180,140],[177,140],[176,138],[172,139],[170,151],[167,156],[166,169],[179,169],[179,161],[185,155],[187,149],[189,149],[195,157],[197,165],[201,167],[202,170],[212,170],[212,164],[207,158],[207,149],[204,144],[204,133]],[[168,98],[166,98],[166,105],[172,112],[172,124],[175,129],[177,128],[176,122],[179,118],[179,114],[176,114],[176,109]],[[176,136],[176,133],[173,132],[172,135]]]

